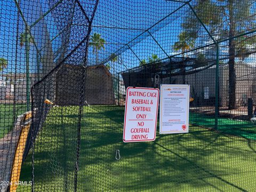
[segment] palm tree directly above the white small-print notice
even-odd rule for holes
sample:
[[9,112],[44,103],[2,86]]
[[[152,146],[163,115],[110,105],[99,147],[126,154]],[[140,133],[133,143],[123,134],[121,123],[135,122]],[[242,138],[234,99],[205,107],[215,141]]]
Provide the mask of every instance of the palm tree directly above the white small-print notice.
[[182,32],[179,35],[179,41],[175,42],[173,45],[173,49],[174,51],[182,51],[182,74],[183,74],[183,84],[185,84],[185,51],[191,49],[194,47],[194,41],[187,38],[189,37],[188,34],[186,32]]

